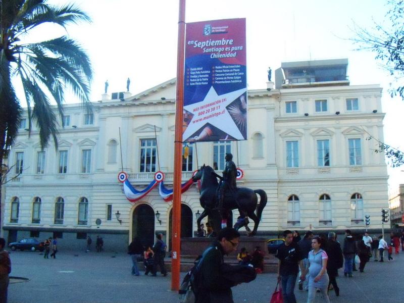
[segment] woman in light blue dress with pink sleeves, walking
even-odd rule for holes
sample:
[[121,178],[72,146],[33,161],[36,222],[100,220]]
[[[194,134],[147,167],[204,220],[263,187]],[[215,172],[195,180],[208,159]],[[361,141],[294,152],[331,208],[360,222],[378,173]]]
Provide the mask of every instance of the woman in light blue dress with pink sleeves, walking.
[[309,294],[307,303],[313,303],[316,296],[316,289],[319,289],[323,302],[330,303],[328,298],[329,278],[327,274],[328,256],[325,250],[321,248],[323,240],[320,237],[312,239],[313,250],[309,252]]

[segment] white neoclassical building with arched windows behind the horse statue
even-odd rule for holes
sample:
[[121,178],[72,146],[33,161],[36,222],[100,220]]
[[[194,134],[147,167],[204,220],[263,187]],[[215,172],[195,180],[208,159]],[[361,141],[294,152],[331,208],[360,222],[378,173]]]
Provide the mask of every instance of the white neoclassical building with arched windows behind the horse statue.
[[[383,139],[382,89],[349,85],[347,64],[282,63],[275,83],[248,91],[248,140],[189,145],[183,181],[204,163],[220,173],[230,151],[244,171],[238,186],[267,192],[259,234],[363,230],[365,215],[369,228],[379,229],[380,209],[388,207],[387,167],[367,138]],[[104,94],[92,113],[66,105],[57,150],[41,150],[38,132],[28,137],[23,120],[8,159],[20,174],[6,186],[6,238],[57,235],[61,245],[78,248],[87,235],[100,235],[107,249],[118,250],[134,236],[151,243],[157,231],[170,239],[172,203],[157,188],[131,203],[117,175],[125,171],[143,190],[160,170],[172,185],[175,86],[172,79],[136,95]],[[182,203],[182,235],[192,236],[202,211],[196,185]]]

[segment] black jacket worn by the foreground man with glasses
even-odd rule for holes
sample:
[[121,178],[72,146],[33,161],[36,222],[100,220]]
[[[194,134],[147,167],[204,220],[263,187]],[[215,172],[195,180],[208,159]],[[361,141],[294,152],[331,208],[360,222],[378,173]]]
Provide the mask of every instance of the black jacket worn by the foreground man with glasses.
[[233,303],[231,287],[236,283],[227,279],[222,271],[223,254],[222,245],[215,241],[213,249],[204,256],[198,276],[195,303]]

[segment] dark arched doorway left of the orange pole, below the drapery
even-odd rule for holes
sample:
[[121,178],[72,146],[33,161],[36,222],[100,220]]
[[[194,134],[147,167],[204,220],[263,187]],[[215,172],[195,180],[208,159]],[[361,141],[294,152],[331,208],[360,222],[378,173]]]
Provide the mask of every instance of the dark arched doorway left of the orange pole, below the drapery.
[[133,211],[132,238],[139,237],[143,245],[153,245],[155,240],[155,212],[147,204]]

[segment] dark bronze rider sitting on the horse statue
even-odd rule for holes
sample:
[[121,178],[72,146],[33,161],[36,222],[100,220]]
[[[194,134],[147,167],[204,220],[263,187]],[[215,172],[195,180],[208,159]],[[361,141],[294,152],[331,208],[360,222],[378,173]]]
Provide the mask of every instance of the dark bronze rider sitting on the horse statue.
[[[218,190],[218,210],[223,210],[223,199],[225,193],[231,193],[234,196],[237,192],[237,185],[236,185],[236,177],[237,177],[237,168],[233,162],[233,155],[226,154],[225,156],[226,164],[223,170],[223,177],[218,176],[221,181],[219,183],[219,190]],[[236,201],[237,203],[237,201]]]

